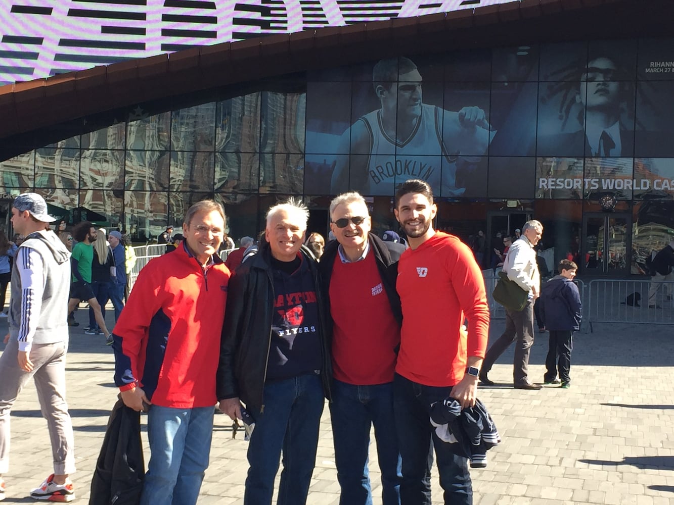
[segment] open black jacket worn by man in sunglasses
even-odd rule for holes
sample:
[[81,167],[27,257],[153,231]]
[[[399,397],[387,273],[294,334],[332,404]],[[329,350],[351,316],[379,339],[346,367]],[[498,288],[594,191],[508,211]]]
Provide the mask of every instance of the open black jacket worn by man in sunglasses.
[[[402,325],[402,308],[400,308],[400,296],[396,291],[396,278],[398,277],[398,260],[400,259],[400,252],[398,250],[388,247],[388,244],[394,242],[384,242],[378,236],[372,233],[367,234],[370,244],[369,253],[375,255],[375,263],[377,263],[377,270],[381,275],[381,283],[386,290],[386,296],[391,304],[393,316]],[[338,256],[339,242],[332,240],[326,245],[326,250],[321,256],[321,262],[318,264],[318,269],[321,272],[323,279],[323,296],[326,300],[326,312],[328,314],[328,323],[330,323],[330,341],[332,341],[332,317],[330,317],[330,279],[332,278],[332,267],[334,266],[335,258]]]

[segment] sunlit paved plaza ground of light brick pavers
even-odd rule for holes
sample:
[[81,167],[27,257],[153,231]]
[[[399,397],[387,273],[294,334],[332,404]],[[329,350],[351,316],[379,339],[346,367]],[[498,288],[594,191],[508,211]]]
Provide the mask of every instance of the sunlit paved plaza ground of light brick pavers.
[[[117,395],[112,350],[104,345],[102,335],[84,334],[85,314],[78,311],[82,325],[71,328],[67,363],[78,502],[88,501],[109,409]],[[113,326],[110,310],[106,321]],[[6,320],[0,320],[2,335],[6,327]],[[502,320],[492,322],[492,341],[502,329]],[[539,333],[530,360],[534,382],[543,380],[546,352],[547,333]],[[556,386],[545,386],[542,391],[513,389],[511,349],[489,374],[503,385],[479,390],[503,442],[489,451],[487,468],[471,471],[474,504],[674,505],[673,374],[672,326],[596,324],[594,333],[576,336],[568,390]],[[16,401],[11,417],[5,502],[30,503],[30,488],[52,471],[47,428],[32,382]],[[243,502],[246,447],[241,432],[232,438],[228,417],[216,415],[211,465],[200,504]],[[373,449],[370,469],[376,504],[381,503],[381,487]],[[434,472],[433,504],[441,500]],[[326,407],[308,503],[338,501]]]

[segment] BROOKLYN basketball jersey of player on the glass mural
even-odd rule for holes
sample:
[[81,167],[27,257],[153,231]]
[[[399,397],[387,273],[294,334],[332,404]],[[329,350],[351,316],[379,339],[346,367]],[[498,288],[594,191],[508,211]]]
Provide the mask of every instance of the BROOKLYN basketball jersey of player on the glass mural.
[[[381,127],[381,110],[373,110],[359,121],[365,123],[371,139],[367,163],[367,184],[363,195],[391,195],[408,179],[423,179],[434,191],[440,187],[441,156],[449,162],[441,135],[442,110],[421,104],[421,116],[411,135],[396,141]],[[435,155],[435,156],[429,156]]]

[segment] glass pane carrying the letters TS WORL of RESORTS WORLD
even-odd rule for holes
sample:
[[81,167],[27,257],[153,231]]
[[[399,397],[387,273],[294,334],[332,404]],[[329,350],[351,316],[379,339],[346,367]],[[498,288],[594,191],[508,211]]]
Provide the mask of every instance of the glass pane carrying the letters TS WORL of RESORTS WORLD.
[[586,199],[611,194],[620,200],[632,199],[633,158],[586,158],[584,195]]

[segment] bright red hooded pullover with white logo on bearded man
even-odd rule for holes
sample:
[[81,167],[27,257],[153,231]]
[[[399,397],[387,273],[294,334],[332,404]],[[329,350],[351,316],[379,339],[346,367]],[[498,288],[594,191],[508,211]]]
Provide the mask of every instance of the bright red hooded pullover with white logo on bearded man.
[[[485,357],[489,307],[485,281],[472,251],[437,232],[398,263],[402,304],[398,374],[426,386],[454,386],[468,356]],[[468,318],[468,335],[461,331]]]

